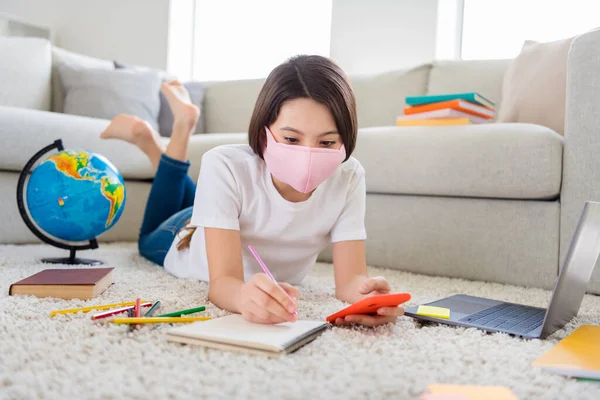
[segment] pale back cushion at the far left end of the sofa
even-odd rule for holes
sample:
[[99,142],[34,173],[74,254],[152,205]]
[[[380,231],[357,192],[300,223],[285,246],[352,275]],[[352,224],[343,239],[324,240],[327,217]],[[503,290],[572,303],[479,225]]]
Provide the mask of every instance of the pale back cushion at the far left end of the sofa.
[[0,106],[50,110],[51,72],[48,40],[0,37]]

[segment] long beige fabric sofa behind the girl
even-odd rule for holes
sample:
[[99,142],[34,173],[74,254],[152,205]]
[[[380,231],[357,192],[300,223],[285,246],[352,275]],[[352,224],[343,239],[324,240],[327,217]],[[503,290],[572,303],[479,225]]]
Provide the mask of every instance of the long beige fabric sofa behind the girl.
[[[10,40],[0,38],[0,74],[6,78],[0,80],[0,243],[37,241],[17,212],[18,171],[57,138],[68,148],[103,154],[119,168],[127,181],[125,212],[99,239],[136,240],[152,179],[148,160],[133,146],[98,139],[108,121],[53,112],[52,93],[60,88],[52,80],[50,44]],[[533,124],[394,126],[407,95],[478,91],[499,104],[509,60],[440,61],[351,77],[360,125],[354,155],[367,173],[368,263],[553,287],[583,201],[600,198],[600,184],[588,180],[599,171],[594,148],[600,137],[594,129],[600,114],[588,109],[592,101],[600,104],[599,44],[600,33],[592,32],[573,45],[564,140]],[[585,79],[594,81],[595,91],[579,90],[588,84]],[[262,82],[206,84],[209,133],[191,139],[192,178],[208,149],[246,141]],[[321,259],[330,260],[330,252]],[[598,273],[590,289],[600,293]]]

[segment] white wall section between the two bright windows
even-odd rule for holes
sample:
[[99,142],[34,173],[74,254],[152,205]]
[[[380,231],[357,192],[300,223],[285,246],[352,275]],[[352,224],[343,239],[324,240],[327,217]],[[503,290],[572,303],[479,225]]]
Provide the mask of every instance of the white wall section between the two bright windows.
[[331,58],[350,75],[430,62],[437,8],[437,0],[333,0]]

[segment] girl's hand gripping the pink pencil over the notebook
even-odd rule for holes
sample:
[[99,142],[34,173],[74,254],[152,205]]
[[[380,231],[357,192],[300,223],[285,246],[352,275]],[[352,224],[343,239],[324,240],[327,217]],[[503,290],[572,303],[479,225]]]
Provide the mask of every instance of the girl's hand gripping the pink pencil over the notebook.
[[256,274],[242,285],[240,313],[250,322],[278,324],[296,320],[296,301],[300,291],[287,284],[279,285],[265,274]]

